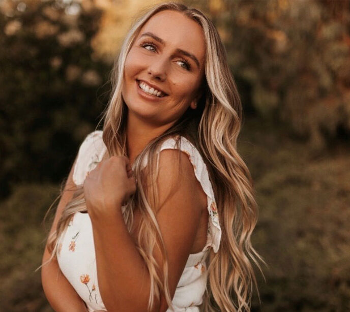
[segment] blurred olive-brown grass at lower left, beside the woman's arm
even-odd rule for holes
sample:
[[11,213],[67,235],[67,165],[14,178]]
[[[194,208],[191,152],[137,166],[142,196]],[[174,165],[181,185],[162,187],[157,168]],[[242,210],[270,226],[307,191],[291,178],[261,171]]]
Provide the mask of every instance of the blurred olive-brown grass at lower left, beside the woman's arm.
[[41,286],[40,270],[44,241],[53,220],[43,216],[60,194],[58,185],[22,184],[0,203],[0,311],[48,312],[50,308]]

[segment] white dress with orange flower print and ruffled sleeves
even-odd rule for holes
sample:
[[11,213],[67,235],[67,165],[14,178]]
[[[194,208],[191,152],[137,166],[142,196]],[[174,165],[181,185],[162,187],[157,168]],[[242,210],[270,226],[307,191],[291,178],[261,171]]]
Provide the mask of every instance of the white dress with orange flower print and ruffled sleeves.
[[[176,148],[174,145],[175,140],[169,138],[163,142],[160,150]],[[102,160],[106,149],[102,140],[102,131],[94,131],[86,136],[79,148],[73,172],[75,184],[83,183],[86,174],[95,168],[97,162]],[[221,228],[212,184],[199,151],[185,137],[181,137],[181,150],[188,155],[195,176],[199,180],[203,191],[207,194],[210,217],[208,220],[207,243],[201,252],[189,255],[172,299],[172,304],[176,312],[199,312],[199,305],[202,303],[207,284],[207,256],[210,247],[213,247],[215,253],[218,252]],[[106,310],[97,282],[94,238],[88,213],[77,212],[73,215],[66,232],[60,240],[57,260],[63,274],[85,301],[89,312],[99,309]],[[167,309],[167,312],[170,312],[170,308]]]

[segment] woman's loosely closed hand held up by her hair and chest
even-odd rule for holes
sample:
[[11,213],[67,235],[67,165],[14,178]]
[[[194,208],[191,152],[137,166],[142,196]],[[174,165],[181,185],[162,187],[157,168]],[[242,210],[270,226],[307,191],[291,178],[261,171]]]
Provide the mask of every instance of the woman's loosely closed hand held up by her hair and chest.
[[136,181],[129,159],[112,156],[97,164],[84,183],[86,207],[90,216],[112,215],[136,191]]

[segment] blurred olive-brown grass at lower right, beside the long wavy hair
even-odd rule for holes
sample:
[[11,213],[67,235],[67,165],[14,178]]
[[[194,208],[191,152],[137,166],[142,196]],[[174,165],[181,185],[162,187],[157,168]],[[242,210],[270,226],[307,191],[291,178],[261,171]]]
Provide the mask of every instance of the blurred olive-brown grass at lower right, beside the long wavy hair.
[[319,157],[283,128],[249,120],[238,145],[259,204],[252,244],[268,263],[256,269],[253,311],[350,310],[350,158],[339,146]]

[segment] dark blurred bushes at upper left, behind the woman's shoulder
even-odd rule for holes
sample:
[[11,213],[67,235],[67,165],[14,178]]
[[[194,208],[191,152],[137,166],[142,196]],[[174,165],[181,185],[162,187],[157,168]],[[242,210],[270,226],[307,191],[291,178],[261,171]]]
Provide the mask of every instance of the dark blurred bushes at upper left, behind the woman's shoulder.
[[110,68],[92,59],[90,46],[101,12],[66,12],[48,1],[0,14],[2,196],[14,183],[58,182],[68,174],[106,103],[102,83]]

